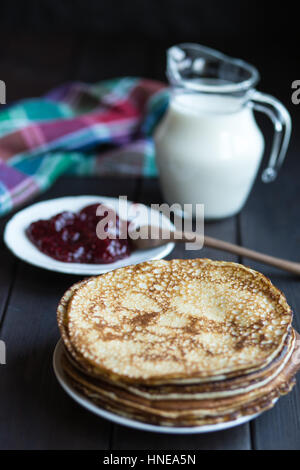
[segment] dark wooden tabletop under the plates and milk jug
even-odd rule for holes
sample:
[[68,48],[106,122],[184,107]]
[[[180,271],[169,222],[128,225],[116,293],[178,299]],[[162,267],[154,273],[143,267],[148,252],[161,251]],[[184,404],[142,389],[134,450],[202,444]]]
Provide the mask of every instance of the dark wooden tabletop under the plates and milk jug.
[[[237,216],[206,224],[206,233],[268,253],[297,258],[300,243],[299,179],[286,165],[273,186],[257,182]],[[127,195],[145,203],[161,200],[155,180],[64,177],[40,199],[62,195]],[[6,222],[1,221],[1,229]],[[249,260],[178,245],[169,258],[211,257],[244,262],[261,269],[286,294],[297,311],[299,280]],[[171,436],[131,430],[96,417],[60,388],[52,369],[59,338],[56,305],[78,277],[48,272],[15,259],[1,245],[0,339],[7,364],[0,366],[0,447],[2,449],[300,449],[299,385],[274,409],[237,428],[194,436]]]

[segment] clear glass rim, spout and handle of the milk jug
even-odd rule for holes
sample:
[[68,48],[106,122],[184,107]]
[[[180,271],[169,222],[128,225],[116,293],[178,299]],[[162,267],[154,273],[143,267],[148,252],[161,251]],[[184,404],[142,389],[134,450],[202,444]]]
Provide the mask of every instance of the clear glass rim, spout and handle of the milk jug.
[[[237,108],[249,106],[265,113],[274,124],[274,139],[262,180],[265,183],[274,181],[288,148],[291,118],[280,101],[255,90],[260,76],[253,65],[208,47],[184,43],[167,51],[167,76],[174,93],[217,95],[219,102],[231,98],[227,100],[228,112],[234,111],[234,103]],[[222,112],[224,109],[222,106]]]

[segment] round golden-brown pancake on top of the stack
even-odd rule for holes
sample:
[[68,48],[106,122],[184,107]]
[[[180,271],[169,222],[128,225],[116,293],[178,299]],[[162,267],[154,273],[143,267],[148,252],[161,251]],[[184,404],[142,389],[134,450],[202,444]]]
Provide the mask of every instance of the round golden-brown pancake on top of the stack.
[[82,283],[64,324],[99,373],[144,383],[234,376],[269,364],[292,320],[284,295],[236,263],[153,261]]

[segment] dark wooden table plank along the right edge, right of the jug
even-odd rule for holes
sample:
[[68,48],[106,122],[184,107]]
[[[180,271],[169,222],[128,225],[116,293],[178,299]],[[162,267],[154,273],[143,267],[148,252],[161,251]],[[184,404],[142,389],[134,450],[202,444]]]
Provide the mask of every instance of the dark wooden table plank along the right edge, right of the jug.
[[[300,182],[295,178],[300,165],[296,152],[288,156],[278,180],[272,185],[257,181],[240,216],[244,246],[265,253],[300,261],[299,194]],[[294,311],[294,326],[300,331],[299,278],[275,268],[243,260],[270,277],[287,297]],[[257,449],[300,449],[300,385],[279,400],[276,406],[252,424]]]

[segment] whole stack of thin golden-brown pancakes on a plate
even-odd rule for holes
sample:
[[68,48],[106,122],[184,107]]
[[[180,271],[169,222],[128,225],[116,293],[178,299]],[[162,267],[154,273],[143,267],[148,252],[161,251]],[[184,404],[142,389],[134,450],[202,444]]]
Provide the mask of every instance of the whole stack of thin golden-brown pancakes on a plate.
[[208,259],[153,261],[70,288],[58,306],[73,387],[127,418],[231,421],[293,387],[296,334],[262,274]]

